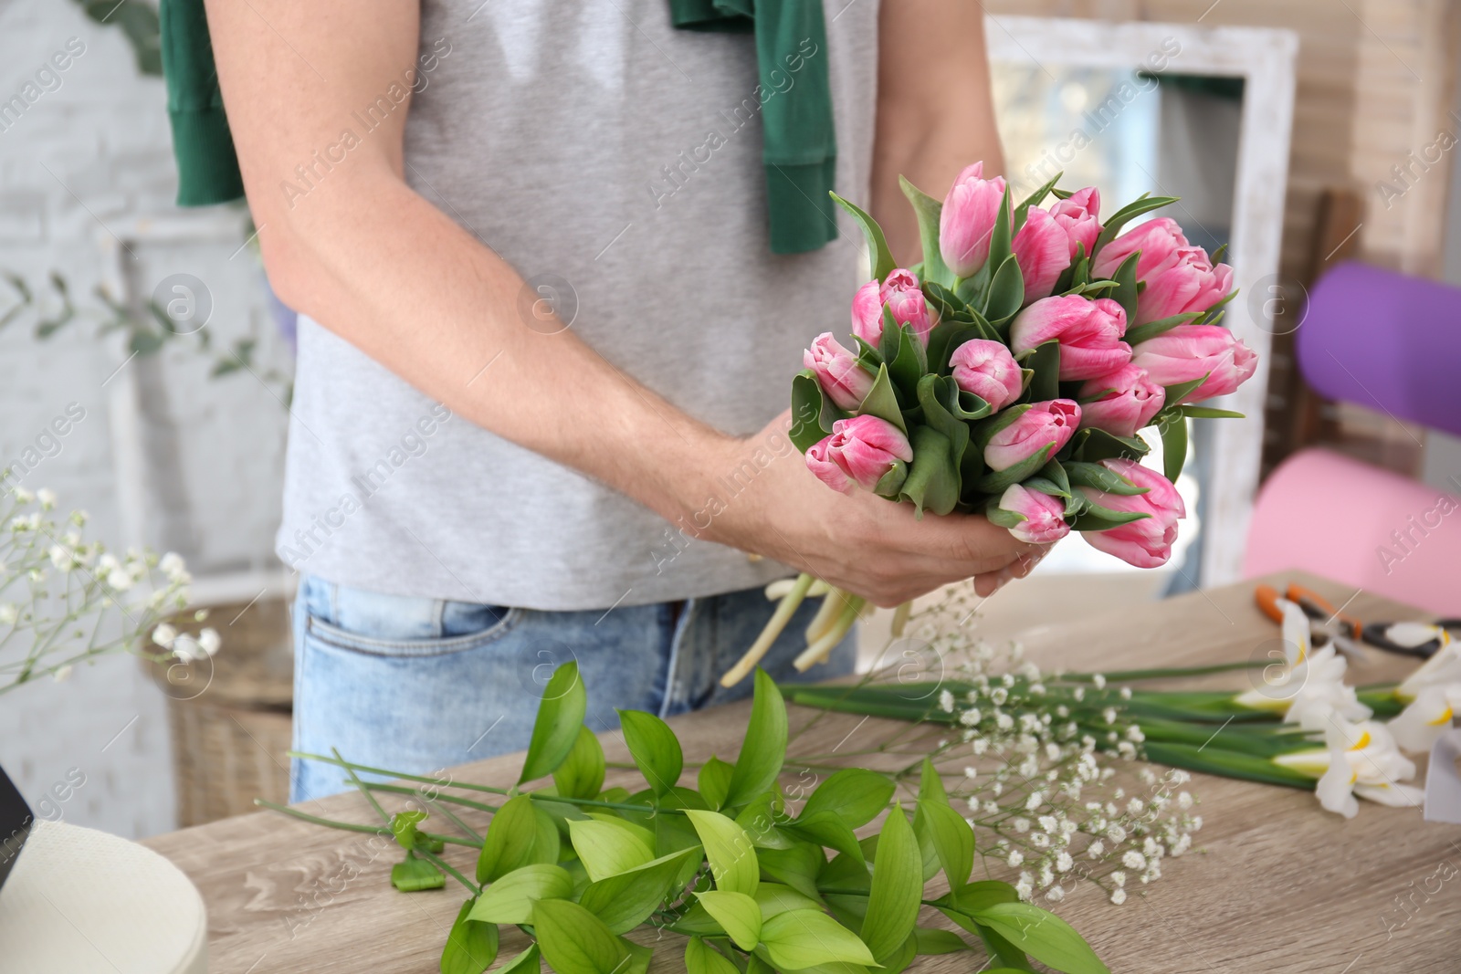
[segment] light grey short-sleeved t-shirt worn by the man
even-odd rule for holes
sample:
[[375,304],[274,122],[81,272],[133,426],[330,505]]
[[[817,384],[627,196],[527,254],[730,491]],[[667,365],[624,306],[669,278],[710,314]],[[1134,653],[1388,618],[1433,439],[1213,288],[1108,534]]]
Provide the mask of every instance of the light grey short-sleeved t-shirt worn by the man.
[[[878,0],[827,0],[825,50],[808,54],[830,66],[837,191],[859,202],[877,16]],[[770,253],[758,107],[796,73],[782,79],[758,91],[751,35],[675,31],[666,0],[424,0],[416,73],[396,91],[383,83],[351,129],[368,139],[411,86],[406,178],[527,279],[523,327],[542,327],[543,301],[615,368],[749,435],[786,409],[802,348],[847,330],[861,253],[840,213],[821,250]],[[494,368],[511,365],[473,381]],[[802,460],[785,438],[749,444],[701,526],[773,463]],[[786,574],[694,534],[451,416],[301,318],[278,537],[292,568],[530,609],[707,596]]]

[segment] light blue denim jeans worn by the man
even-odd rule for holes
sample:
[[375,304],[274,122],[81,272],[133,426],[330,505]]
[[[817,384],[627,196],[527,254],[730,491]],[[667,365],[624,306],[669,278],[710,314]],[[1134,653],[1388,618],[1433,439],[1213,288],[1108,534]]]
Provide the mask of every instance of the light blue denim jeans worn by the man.
[[[849,634],[824,666],[792,660],[821,599],[808,599],[761,660],[777,680],[850,673]],[[294,612],[294,748],[425,774],[522,751],[552,669],[579,662],[584,721],[618,727],[615,708],[669,717],[741,699],[752,680],[720,686],[774,605],[760,588],[606,612],[536,612],[387,596],[305,575]],[[726,740],[723,758],[738,742]],[[294,761],[292,802],[345,791],[340,768]]]

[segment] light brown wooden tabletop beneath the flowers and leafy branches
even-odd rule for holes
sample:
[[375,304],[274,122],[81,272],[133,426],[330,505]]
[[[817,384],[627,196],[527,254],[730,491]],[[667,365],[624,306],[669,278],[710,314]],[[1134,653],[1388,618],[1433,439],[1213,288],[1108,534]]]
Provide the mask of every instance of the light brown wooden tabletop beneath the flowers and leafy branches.
[[[1362,619],[1423,618],[1366,591],[1299,572],[1286,578],[1306,581]],[[1252,584],[1240,584],[1037,626],[1023,641],[1042,664],[1090,670],[1243,660],[1275,635],[1277,626],[1252,606]],[[1372,657],[1351,667],[1353,683],[1394,679],[1413,666]],[[1246,679],[1230,676],[1233,686]],[[738,704],[671,723],[687,758],[732,758],[728,742],[739,739],[747,710]],[[793,726],[809,717],[792,708]],[[804,742],[828,751],[858,720],[831,716]],[[874,742],[888,729],[868,721],[856,735]],[[603,745],[609,761],[627,759],[617,733],[605,735]],[[453,774],[506,786],[520,767],[520,756],[506,755]],[[615,774],[628,772],[611,771],[611,784]],[[1163,863],[1163,878],[1125,905],[1110,905],[1093,886],[1059,904],[1112,971],[1461,971],[1461,827],[1366,802],[1356,819],[1344,821],[1322,812],[1312,794],[1227,778],[1195,775],[1189,787],[1204,818],[1192,853]],[[375,821],[358,794],[308,810]],[[463,891],[447,881],[444,892],[397,894],[389,872],[399,850],[371,847],[371,838],[262,812],[146,844],[202,889],[213,974],[434,973]],[[449,859],[468,873],[473,853],[449,847]],[[501,956],[522,949],[520,940],[522,933],[504,930]],[[674,940],[662,940],[668,949],[656,951],[655,971],[684,970]],[[982,962],[972,954],[928,956],[913,970],[972,971]]]

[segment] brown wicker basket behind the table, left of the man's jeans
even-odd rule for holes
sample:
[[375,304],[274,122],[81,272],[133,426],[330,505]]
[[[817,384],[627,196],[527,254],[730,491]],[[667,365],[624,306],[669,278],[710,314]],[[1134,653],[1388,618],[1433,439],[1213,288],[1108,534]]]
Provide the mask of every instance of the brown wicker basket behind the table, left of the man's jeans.
[[[187,624],[197,628],[191,616]],[[148,664],[168,695],[180,828],[253,812],[256,797],[289,796],[289,606],[283,599],[218,605],[207,625],[222,637],[212,659]]]

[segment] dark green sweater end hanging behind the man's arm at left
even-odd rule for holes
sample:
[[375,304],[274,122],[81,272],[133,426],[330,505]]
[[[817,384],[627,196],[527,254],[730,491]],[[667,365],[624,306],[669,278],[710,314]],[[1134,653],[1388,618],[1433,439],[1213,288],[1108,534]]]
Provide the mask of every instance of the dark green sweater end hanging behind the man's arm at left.
[[244,194],[244,181],[218,88],[203,0],[161,0],[158,19],[178,166],[178,206],[237,200]]

